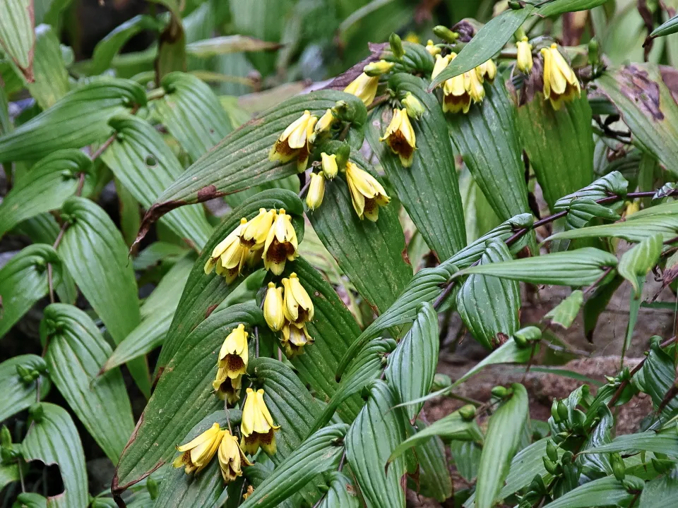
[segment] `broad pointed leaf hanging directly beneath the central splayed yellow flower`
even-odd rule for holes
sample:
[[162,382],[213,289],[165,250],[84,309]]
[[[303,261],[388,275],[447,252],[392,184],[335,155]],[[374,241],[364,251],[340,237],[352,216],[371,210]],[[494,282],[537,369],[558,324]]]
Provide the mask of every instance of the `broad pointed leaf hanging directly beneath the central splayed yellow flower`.
[[[369,173],[369,163],[355,150],[351,160]],[[307,214],[314,231],[341,270],[375,313],[386,310],[412,278],[406,260],[405,235],[398,210],[387,205],[379,220],[360,220],[351,203],[348,186],[338,176],[326,186],[323,205]]]

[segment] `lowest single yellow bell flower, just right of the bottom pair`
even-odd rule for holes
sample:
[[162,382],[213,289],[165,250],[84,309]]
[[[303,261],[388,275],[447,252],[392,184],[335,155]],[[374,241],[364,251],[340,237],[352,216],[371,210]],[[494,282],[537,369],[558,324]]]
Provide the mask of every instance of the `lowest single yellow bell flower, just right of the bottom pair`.
[[261,448],[269,455],[275,454],[275,431],[280,425],[273,423],[266,401],[263,400],[263,389],[256,392],[246,390],[245,405],[242,409],[242,423],[240,424],[240,447],[250,455],[256,454]]

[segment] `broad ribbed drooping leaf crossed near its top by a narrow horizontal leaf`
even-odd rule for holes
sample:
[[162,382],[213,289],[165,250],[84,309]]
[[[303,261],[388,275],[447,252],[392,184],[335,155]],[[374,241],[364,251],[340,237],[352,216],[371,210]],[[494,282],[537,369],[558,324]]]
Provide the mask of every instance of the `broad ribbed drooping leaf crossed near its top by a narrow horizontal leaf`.
[[[480,266],[511,260],[506,243],[488,242]],[[502,344],[520,327],[521,291],[518,282],[471,275],[457,294],[457,310],[470,334],[487,349]]]

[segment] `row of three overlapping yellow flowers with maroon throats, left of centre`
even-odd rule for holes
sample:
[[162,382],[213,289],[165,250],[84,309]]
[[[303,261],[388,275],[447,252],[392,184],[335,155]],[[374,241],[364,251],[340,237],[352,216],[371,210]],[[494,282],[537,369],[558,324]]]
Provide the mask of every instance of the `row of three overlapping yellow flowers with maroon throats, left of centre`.
[[280,275],[285,262],[299,255],[297,248],[292,217],[283,208],[278,212],[261,208],[254,219],[240,219],[237,228],[214,248],[205,264],[205,273],[215,270],[230,284],[245,265],[254,267],[263,260],[266,270]]

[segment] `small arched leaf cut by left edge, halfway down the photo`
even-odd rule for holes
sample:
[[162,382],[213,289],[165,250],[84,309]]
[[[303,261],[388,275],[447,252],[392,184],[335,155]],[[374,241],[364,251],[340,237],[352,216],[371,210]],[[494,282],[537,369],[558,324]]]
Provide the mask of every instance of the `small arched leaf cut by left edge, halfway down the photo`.
[[47,295],[47,264],[54,270],[54,285],[59,284],[61,260],[52,246],[34,243],[20,250],[0,269],[0,339]]

